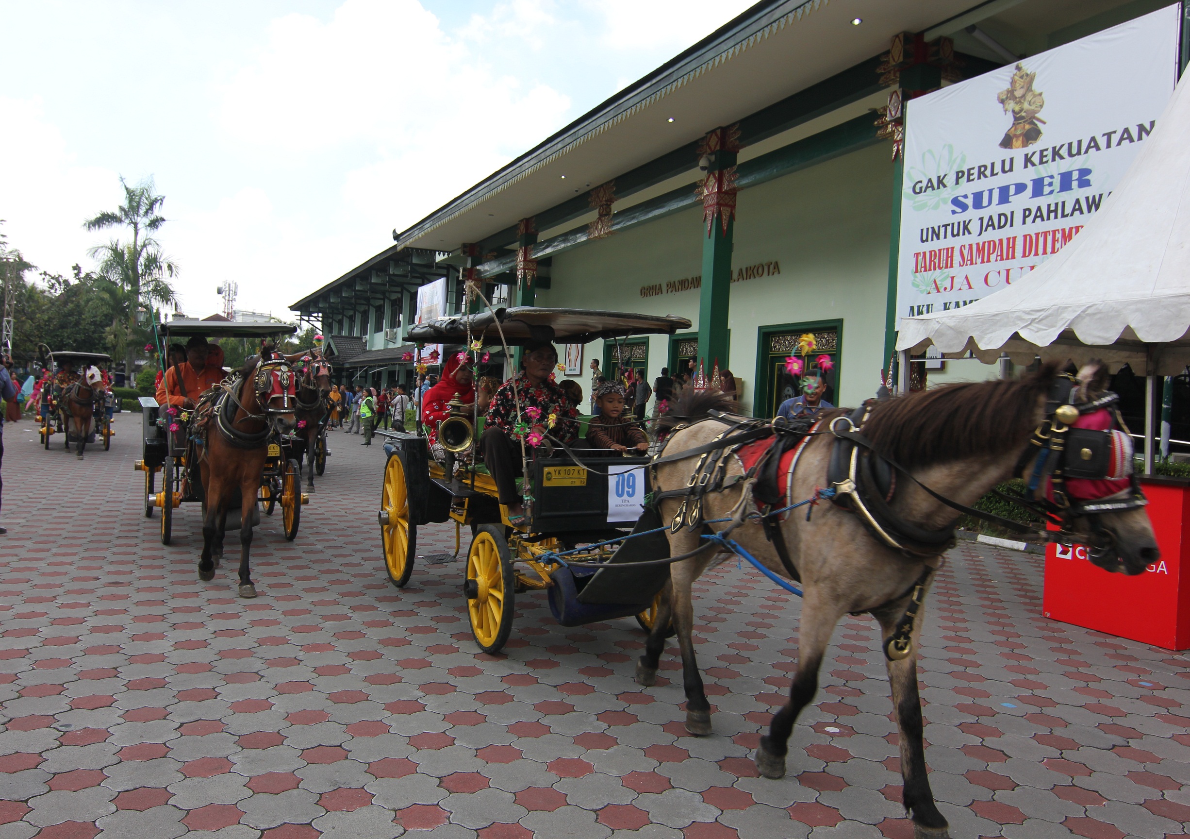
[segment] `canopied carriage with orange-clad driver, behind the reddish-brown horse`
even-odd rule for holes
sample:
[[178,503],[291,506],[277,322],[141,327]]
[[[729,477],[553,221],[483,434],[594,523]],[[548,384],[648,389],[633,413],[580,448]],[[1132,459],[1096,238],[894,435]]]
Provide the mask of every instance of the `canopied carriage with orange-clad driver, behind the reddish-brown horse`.
[[[218,340],[223,338],[264,339],[293,334],[295,326],[287,324],[234,324],[211,321],[170,321],[161,324],[159,334],[165,345],[174,339],[187,339],[194,336]],[[292,371],[287,375],[296,374]],[[293,400],[293,395],[289,396]],[[142,458],[134,468],[144,472],[144,511],[145,518],[152,518],[154,509],[161,511],[161,541],[170,543],[174,511],[182,502],[198,501],[206,508],[206,495],[199,464],[193,462],[192,422],[195,421],[194,409],[178,409],[159,406],[156,399],[142,397]],[[289,408],[290,413],[293,407]],[[306,438],[298,433],[282,433],[274,426],[268,426],[267,458],[261,480],[259,502],[252,509],[252,524],[259,524],[259,507],[265,515],[273,515],[277,505],[281,506],[282,524],[287,540],[298,536],[301,521],[301,507],[308,497],[301,491],[300,463],[306,452]],[[263,439],[263,438],[262,438]],[[157,472],[161,472],[161,489],[155,487]],[[242,524],[240,499],[231,499],[227,513],[226,530],[237,530]]]

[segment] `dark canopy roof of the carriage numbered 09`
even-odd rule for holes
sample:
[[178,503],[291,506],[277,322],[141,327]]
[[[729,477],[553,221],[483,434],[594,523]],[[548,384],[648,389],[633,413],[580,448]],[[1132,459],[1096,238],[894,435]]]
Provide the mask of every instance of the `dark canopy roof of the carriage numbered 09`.
[[513,346],[534,340],[587,344],[596,338],[674,334],[689,328],[689,320],[672,314],[516,306],[418,324],[406,332],[405,339],[425,344],[459,344],[466,342],[470,334],[484,344],[499,344],[503,332],[505,340]]

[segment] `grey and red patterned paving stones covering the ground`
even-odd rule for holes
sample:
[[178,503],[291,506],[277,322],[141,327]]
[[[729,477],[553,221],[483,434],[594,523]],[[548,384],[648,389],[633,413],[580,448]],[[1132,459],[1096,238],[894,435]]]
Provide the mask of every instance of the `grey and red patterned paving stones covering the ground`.
[[[657,687],[633,683],[632,620],[566,630],[522,595],[493,657],[459,563],[392,588],[378,446],[332,434],[298,539],[280,515],[257,528],[244,601],[233,562],[196,578],[196,505],[161,545],[139,415],[115,427],[81,463],[5,428],[0,839],[912,835],[873,621],[840,625],[791,774],[766,781],[750,751],[796,668],[798,603],[759,575],[728,563],[699,586],[716,713],[693,738],[675,650]],[[450,552],[453,527],[419,545]],[[1186,657],[1045,620],[1040,571],[965,543],[931,595],[926,758],[952,835],[1182,834]]]

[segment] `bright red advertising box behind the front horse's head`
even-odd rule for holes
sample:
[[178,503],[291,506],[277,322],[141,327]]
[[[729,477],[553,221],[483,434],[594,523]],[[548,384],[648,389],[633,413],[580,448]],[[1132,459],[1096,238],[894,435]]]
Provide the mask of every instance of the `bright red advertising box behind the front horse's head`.
[[[1159,562],[1135,577],[1092,565],[1083,545],[1047,545],[1046,618],[1144,644],[1190,647],[1190,481],[1141,478]],[[1183,571],[1185,571],[1183,574]]]

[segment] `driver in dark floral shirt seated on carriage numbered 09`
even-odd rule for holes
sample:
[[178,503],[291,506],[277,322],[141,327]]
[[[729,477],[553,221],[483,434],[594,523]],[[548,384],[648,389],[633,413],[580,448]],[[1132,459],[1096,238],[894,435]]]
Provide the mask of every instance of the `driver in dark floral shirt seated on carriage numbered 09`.
[[[562,388],[551,380],[558,363],[558,351],[549,342],[531,342],[522,355],[524,370],[505,382],[491,397],[483,417],[481,449],[483,464],[491,474],[500,503],[508,507],[508,520],[525,520],[525,506],[516,493],[516,477],[522,474],[520,440],[538,446],[546,433],[566,445],[578,438],[578,411]],[[516,395],[513,394],[513,387]],[[520,397],[520,417],[516,397]]]

